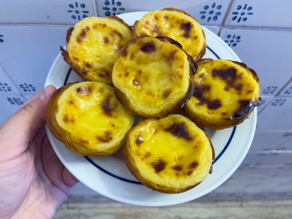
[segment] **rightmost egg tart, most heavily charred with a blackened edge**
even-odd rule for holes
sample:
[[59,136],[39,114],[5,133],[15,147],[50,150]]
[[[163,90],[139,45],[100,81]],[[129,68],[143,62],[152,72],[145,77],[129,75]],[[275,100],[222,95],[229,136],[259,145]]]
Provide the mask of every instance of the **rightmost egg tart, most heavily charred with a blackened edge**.
[[194,82],[192,98],[184,110],[201,126],[215,129],[236,126],[261,102],[258,76],[241,62],[202,60]]

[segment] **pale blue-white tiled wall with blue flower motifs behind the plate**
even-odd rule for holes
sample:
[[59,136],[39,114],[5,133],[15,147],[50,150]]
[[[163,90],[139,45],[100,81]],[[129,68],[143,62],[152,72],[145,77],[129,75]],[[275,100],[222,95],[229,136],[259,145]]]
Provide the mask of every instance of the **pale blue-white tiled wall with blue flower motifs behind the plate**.
[[164,7],[190,13],[260,78],[263,102],[251,149],[237,172],[212,194],[288,194],[292,191],[292,1],[2,1],[0,123],[44,86],[69,26],[87,16]]

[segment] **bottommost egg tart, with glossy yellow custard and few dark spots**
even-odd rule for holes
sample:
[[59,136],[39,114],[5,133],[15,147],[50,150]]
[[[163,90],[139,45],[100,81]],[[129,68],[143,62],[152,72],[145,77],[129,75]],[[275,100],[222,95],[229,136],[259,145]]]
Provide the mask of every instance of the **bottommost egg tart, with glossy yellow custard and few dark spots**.
[[199,185],[212,173],[215,158],[204,130],[178,114],[141,120],[128,132],[123,152],[137,180],[163,193],[181,193]]

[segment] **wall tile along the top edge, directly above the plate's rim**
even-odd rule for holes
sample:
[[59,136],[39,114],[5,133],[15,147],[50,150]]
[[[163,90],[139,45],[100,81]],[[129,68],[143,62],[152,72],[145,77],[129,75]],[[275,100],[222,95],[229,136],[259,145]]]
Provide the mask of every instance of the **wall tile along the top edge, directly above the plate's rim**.
[[152,11],[173,7],[186,11],[202,25],[221,25],[230,0],[203,1],[131,1],[131,0],[97,0],[97,10],[100,17],[133,11]]

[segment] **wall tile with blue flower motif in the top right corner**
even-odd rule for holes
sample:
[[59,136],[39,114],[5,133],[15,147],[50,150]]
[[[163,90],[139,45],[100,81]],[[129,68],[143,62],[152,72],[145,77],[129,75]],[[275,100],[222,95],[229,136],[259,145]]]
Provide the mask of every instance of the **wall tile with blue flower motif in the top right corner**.
[[226,26],[292,27],[292,1],[234,0],[225,20]]

